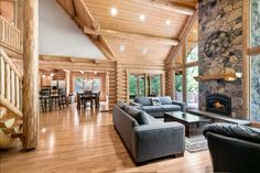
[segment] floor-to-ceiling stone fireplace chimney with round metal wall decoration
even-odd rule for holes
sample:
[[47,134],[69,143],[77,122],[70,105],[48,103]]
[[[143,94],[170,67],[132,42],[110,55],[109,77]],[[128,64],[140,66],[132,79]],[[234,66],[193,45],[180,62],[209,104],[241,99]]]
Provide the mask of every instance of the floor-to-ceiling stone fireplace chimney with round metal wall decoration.
[[[199,0],[198,33],[199,76],[242,73],[242,0]],[[227,112],[219,109],[218,113],[247,119],[242,107],[242,78],[199,82],[199,109],[208,109],[206,98],[220,94],[225,96],[220,100],[228,100],[230,105]],[[224,109],[221,104],[215,102],[215,106]]]

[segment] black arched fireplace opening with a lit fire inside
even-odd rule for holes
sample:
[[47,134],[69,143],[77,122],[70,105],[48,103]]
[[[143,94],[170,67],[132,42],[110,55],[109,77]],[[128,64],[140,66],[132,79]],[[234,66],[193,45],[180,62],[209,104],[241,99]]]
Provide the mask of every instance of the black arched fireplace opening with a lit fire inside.
[[206,97],[206,111],[212,111],[225,116],[231,115],[231,98],[221,95],[213,94]]

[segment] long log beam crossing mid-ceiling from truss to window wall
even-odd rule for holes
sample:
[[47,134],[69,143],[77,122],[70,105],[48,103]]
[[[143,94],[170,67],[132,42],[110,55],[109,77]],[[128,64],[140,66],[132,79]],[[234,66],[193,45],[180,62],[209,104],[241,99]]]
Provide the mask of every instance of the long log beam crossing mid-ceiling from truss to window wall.
[[122,32],[122,31],[115,31],[115,30],[93,30],[88,26],[84,26],[84,32],[91,35],[102,35],[102,36],[112,36],[112,37],[121,37],[126,40],[134,40],[137,42],[149,41],[159,44],[166,44],[166,45],[177,45],[178,40],[175,39],[166,39],[166,37],[159,37],[152,35],[144,35],[144,34],[136,34],[130,32]]

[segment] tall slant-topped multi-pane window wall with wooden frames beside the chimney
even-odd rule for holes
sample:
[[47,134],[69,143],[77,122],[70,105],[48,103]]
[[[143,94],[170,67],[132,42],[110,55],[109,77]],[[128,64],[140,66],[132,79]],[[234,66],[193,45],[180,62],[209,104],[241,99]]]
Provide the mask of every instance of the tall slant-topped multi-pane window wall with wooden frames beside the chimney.
[[194,22],[187,36],[183,39],[181,51],[173,64],[174,95],[178,101],[185,101],[189,108],[198,107],[198,22]]

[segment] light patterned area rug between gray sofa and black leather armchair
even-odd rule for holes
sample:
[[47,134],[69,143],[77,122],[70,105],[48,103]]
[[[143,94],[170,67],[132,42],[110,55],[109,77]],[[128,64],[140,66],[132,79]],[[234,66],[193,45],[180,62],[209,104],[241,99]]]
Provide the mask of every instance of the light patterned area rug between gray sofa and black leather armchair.
[[198,152],[207,150],[207,140],[204,138],[204,136],[185,138],[185,149],[188,152]]

